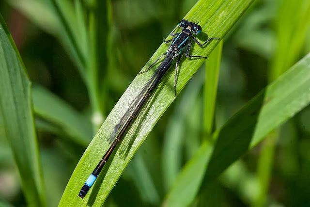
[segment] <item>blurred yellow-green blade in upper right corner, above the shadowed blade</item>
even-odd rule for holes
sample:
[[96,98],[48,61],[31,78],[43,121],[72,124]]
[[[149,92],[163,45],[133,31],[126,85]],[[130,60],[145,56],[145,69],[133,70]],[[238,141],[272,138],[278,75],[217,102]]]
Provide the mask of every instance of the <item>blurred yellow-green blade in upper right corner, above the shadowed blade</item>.
[[277,25],[279,49],[273,58],[270,80],[276,79],[295,63],[310,25],[309,0],[285,0],[279,4]]

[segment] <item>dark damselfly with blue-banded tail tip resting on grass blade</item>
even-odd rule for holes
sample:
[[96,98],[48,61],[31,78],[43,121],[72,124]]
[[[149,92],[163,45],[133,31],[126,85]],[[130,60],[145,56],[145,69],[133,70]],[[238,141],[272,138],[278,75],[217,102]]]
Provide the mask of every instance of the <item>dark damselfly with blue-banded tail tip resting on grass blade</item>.
[[172,42],[167,52],[165,52],[162,56],[157,58],[157,60],[153,64],[151,64],[146,70],[139,73],[141,74],[141,73],[147,72],[161,58],[166,56],[165,59],[161,62],[161,64],[155,70],[153,76],[145,84],[145,86],[143,87],[139,95],[130,104],[128,110],[125,112],[121,121],[114,127],[114,132],[109,138],[111,146],[106,152],[106,154],[103,156],[103,158],[100,160],[97,167],[93,170],[93,173],[88,177],[82,189],[79,191],[78,193],[79,197],[84,198],[87,192],[89,191],[89,189],[92,187],[93,183],[97,179],[104,165],[107,163],[110,155],[113,153],[113,150],[115,149],[116,145],[124,137],[126,130],[130,127],[133,120],[138,116],[144,103],[148,100],[148,98],[151,96],[151,94],[155,90],[156,86],[158,85],[162,77],[166,74],[168,69],[171,67],[173,60],[176,59],[175,79],[174,79],[174,94],[176,95],[176,81],[177,81],[178,65],[184,53],[186,57],[188,58],[206,58],[207,59],[207,57],[203,57],[203,56],[189,55],[189,50],[190,50],[192,40],[194,40],[200,47],[203,47],[209,41],[213,39],[218,39],[218,37],[211,37],[207,41],[205,41],[203,44],[201,44],[194,36],[202,32],[202,27],[198,25],[198,23],[195,24],[193,22],[182,19],[179,22],[179,27],[182,29],[182,32],[174,33],[178,29],[178,27],[176,27],[170,34],[174,38],[167,40],[167,41],[165,38],[163,38],[166,44]]

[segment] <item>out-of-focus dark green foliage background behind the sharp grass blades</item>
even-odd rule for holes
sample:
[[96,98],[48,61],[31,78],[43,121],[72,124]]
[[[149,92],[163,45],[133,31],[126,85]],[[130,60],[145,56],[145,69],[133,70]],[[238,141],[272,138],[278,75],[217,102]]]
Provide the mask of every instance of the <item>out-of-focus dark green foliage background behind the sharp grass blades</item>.
[[[83,30],[78,21],[74,22],[72,16],[78,16],[78,6],[92,8],[93,1],[84,0],[80,4],[74,0],[62,1],[66,17],[73,21],[71,25],[77,25],[72,31],[80,30],[72,34],[79,35],[80,41],[72,44],[55,18],[49,0],[0,1],[0,13],[33,83],[35,124],[48,206],[58,205],[70,175],[98,127],[162,43],[162,37],[172,31],[196,0],[102,2],[104,5],[98,5],[104,9],[102,18],[93,20],[90,13],[84,14],[90,27],[99,31],[92,34]],[[256,0],[224,37],[216,128],[310,52],[309,12],[307,0]],[[95,47],[88,48],[92,46],[84,41],[83,35],[90,35]],[[80,48],[81,54],[74,54],[74,47]],[[95,64],[98,70],[83,74],[84,63],[80,60]],[[166,140],[178,136],[182,143],[180,167],[202,141],[204,70],[203,65],[160,118],[105,205],[161,204],[171,187],[162,162]],[[60,114],[45,111],[57,107]],[[65,117],[76,123],[64,125]],[[310,206],[309,148],[307,107],[226,170],[209,187],[212,195],[200,193],[192,205],[203,206],[203,200],[207,199],[212,206],[221,207]],[[261,176],[266,179],[265,191],[258,187],[262,185]],[[26,206],[0,114],[0,205],[2,202]]]

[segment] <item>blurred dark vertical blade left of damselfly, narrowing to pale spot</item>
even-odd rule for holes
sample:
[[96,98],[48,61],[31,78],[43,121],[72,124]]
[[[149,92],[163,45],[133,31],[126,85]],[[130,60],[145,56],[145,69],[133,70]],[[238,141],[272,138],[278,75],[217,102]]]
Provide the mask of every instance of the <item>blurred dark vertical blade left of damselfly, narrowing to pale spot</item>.
[[[108,54],[111,48],[108,47],[108,39],[111,24],[110,1],[91,0],[89,1],[89,52],[87,63],[87,75],[89,80],[90,99],[93,106],[93,125],[97,131],[103,121],[107,102],[107,68],[109,65]],[[108,53],[109,51],[109,53]]]

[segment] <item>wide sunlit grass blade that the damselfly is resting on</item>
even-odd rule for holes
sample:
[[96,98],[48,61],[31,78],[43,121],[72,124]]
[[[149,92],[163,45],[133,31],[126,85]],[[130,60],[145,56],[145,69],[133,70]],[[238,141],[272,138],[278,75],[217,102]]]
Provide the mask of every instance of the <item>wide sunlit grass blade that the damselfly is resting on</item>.
[[[240,16],[242,16],[251,2],[252,0],[200,0],[186,16],[194,22],[200,21],[203,31],[207,32],[209,37],[222,38],[233,27]],[[204,34],[200,35],[198,38],[200,41],[205,41],[207,39]],[[205,48],[195,46],[192,49],[192,54],[208,56],[218,42],[219,41],[212,41]],[[155,59],[166,50],[167,46],[162,44],[144,68],[154,62]],[[177,83],[177,93],[179,93],[179,91],[185,86],[186,82],[192,77],[203,62],[204,60],[201,59],[194,61],[186,59],[182,63]],[[154,69],[152,71],[154,71]],[[144,110],[144,112],[147,111],[148,113],[144,114],[142,112],[137,117],[135,124],[139,125],[139,128],[131,127],[124,137],[125,142],[123,143],[126,143],[126,140],[130,138],[135,139],[132,145],[129,146],[130,151],[128,152],[127,157],[123,159],[119,153],[115,153],[114,156],[110,158],[107,166],[104,168],[103,172],[101,172],[101,175],[99,175],[94,186],[84,200],[78,199],[76,194],[78,194],[83,183],[91,174],[93,168],[97,165],[97,161],[101,159],[102,155],[104,155],[109,148],[107,139],[112,133],[113,127],[118,123],[134,97],[140,92],[145,82],[152,75],[152,72],[138,76],[132,82],[119,100],[118,104],[109,114],[108,118],[94,137],[92,143],[85,151],[83,157],[80,159],[80,162],[62,195],[60,206],[101,206],[103,204],[130,159],[134,156],[135,152],[138,150],[148,133],[152,130],[160,116],[174,100],[173,72],[174,71],[172,70],[168,72],[167,76],[162,81],[161,87],[159,87],[152,96],[150,103]]]

